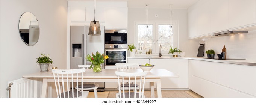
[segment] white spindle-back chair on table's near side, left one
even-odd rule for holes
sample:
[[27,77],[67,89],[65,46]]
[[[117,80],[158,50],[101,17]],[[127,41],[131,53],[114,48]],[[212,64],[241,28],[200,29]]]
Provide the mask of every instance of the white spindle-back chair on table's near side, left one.
[[[83,72],[85,69],[52,69],[56,93],[58,98],[74,98],[74,97],[87,97],[89,92],[80,92],[79,90],[74,90],[74,83],[83,83]],[[81,77],[81,78],[78,78]],[[81,82],[79,80],[81,79]],[[65,91],[65,85],[67,86],[67,91]],[[71,82],[72,90],[70,90],[69,82]],[[62,87],[62,88],[61,88]],[[83,89],[83,87],[82,87]]]

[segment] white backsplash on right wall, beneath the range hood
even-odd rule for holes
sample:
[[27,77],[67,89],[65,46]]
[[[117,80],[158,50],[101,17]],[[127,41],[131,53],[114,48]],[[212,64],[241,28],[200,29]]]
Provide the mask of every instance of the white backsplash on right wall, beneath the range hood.
[[205,40],[205,50],[213,49],[215,58],[222,51],[223,45],[227,49],[226,58],[256,60],[256,30],[232,36],[216,36]]

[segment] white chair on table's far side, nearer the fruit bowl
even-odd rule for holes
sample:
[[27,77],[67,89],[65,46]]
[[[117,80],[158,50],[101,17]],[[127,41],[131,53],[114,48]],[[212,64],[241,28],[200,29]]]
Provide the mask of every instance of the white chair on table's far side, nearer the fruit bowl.
[[[115,66],[117,66],[117,70],[129,70],[129,69],[136,69],[137,66],[138,66],[138,63],[116,63]],[[119,86],[119,85],[118,85]],[[118,89],[118,86],[117,86],[117,89]],[[125,83],[124,84],[124,89],[125,90],[128,90],[128,83]],[[135,87],[135,84],[130,84],[130,87]],[[123,89],[123,84],[121,84],[121,90]],[[136,89],[139,89],[139,85],[136,84]]]

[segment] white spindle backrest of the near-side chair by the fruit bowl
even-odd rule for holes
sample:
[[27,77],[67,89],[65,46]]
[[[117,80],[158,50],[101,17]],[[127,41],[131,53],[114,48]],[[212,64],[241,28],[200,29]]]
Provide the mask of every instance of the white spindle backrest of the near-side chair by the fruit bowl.
[[[145,80],[146,80],[146,75],[148,72],[119,72],[116,71],[115,74],[117,75],[117,80],[118,80],[118,88],[119,88],[119,96],[121,98],[121,86],[120,86],[120,82],[122,84],[124,84],[124,82],[128,82],[128,93],[125,93],[125,89],[124,89],[124,85],[123,85],[123,98],[125,98],[125,94],[128,94],[128,97],[130,98],[130,84],[132,82],[134,82],[134,84],[136,84],[136,82],[139,80],[139,98],[143,97],[144,95],[144,87],[145,87]],[[122,81],[120,81],[122,80]],[[128,80],[128,81],[127,81]],[[136,97],[136,88],[132,88],[135,89],[134,91],[134,98]]]

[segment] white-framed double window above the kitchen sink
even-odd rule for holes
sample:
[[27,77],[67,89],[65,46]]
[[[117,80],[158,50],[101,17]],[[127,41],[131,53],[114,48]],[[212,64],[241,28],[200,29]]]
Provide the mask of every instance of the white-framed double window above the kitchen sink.
[[[169,24],[168,24],[169,23]],[[138,52],[145,54],[152,49],[152,53],[159,53],[159,46],[162,45],[161,53],[167,54],[170,46],[177,47],[177,22],[174,22],[173,28],[170,22],[136,22],[135,45]]]

